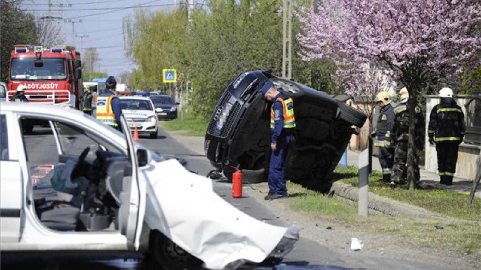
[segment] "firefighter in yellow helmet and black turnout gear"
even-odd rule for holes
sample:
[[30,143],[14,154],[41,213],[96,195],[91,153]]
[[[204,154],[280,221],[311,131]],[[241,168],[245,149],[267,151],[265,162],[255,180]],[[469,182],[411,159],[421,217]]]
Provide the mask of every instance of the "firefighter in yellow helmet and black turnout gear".
[[394,121],[394,108],[391,105],[391,96],[388,92],[379,92],[374,101],[381,107],[379,112],[378,122],[376,124],[376,138],[374,140],[374,146],[379,147],[379,163],[382,168],[382,181],[391,183],[391,169],[394,161],[394,149],[388,148],[386,142],[389,145],[389,141],[386,137],[390,137],[390,128]]

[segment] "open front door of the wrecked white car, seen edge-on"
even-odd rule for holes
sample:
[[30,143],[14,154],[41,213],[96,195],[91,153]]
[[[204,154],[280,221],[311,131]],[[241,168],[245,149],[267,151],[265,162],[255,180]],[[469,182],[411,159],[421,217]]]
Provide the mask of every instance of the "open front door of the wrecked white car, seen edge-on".
[[[127,245],[129,248],[139,249],[139,238],[143,224],[143,214],[145,209],[145,199],[141,199],[141,190],[139,185],[139,164],[137,153],[130,134],[124,115],[120,116],[120,126],[124,131],[127,141],[128,159],[132,164],[132,176],[124,179],[123,190],[120,192],[120,208],[119,208],[119,230],[120,233],[127,236]],[[145,193],[145,192],[144,192]],[[144,205],[141,205],[143,203]]]

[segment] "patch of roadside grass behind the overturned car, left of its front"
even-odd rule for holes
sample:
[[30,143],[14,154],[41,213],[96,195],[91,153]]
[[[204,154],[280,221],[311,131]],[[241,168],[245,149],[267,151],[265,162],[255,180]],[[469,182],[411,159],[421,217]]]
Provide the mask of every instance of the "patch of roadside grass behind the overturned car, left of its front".
[[209,124],[209,118],[195,117],[184,113],[184,121],[180,115],[174,120],[165,120],[160,123],[161,128],[169,131],[185,131],[184,135],[204,136]]

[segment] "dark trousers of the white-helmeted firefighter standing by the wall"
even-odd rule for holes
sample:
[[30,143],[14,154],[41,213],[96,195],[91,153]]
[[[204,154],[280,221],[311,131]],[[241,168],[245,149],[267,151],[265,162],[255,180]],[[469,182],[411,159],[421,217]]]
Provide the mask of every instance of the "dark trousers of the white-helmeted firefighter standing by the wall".
[[441,184],[453,184],[456,172],[458,142],[443,142],[436,144],[438,154],[438,172]]

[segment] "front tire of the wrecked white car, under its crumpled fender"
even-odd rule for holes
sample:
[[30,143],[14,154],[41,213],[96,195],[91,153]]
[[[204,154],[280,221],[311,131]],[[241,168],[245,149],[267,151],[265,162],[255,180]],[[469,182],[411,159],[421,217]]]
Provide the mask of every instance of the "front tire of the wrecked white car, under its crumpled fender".
[[162,270],[201,270],[202,260],[195,258],[159,231],[152,231],[151,256]]

